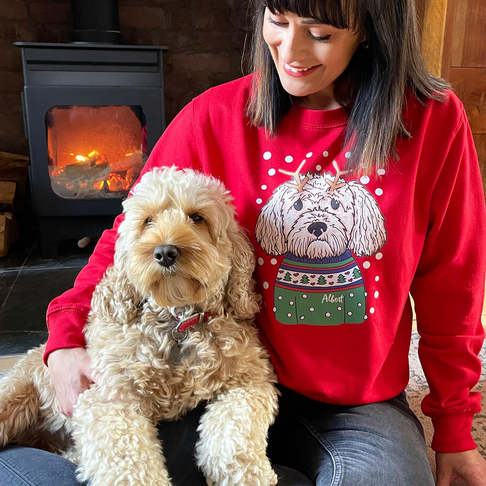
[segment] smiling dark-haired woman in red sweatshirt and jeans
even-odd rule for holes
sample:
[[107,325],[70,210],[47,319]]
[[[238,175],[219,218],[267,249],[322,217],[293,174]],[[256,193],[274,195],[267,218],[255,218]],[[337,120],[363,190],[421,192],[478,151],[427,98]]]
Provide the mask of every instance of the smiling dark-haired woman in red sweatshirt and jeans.
[[[279,485],[434,484],[403,391],[409,291],[437,485],[486,484],[470,434],[486,215],[469,124],[424,67],[413,1],[365,3],[256,0],[253,74],[192,100],[144,170],[221,178],[252,235],[257,323],[282,391],[267,451]],[[92,382],[82,328],[121,220],[48,309],[45,360],[66,415]],[[192,459],[202,409],[160,426],[174,485],[205,484]],[[1,464],[8,484],[77,484],[47,452],[6,449]]]

